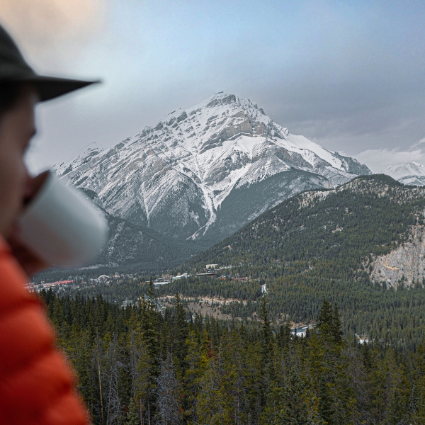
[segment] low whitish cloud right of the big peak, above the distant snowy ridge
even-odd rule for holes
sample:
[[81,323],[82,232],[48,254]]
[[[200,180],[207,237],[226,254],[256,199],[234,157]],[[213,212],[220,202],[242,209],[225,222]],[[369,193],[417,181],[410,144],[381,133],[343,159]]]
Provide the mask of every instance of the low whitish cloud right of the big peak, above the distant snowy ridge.
[[[423,141],[422,141],[423,143]],[[385,171],[390,165],[419,162],[425,164],[423,149],[414,149],[418,144],[412,145],[412,150],[399,149],[367,149],[354,157],[362,164],[366,164],[373,173]]]

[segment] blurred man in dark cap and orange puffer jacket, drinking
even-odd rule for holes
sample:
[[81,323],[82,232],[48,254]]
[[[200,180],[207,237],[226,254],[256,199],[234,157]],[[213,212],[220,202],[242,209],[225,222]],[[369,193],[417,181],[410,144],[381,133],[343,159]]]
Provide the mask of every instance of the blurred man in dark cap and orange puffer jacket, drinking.
[[45,264],[21,246],[16,227],[38,186],[23,161],[35,103],[89,84],[35,74],[0,26],[0,424],[89,423],[43,307],[25,289]]

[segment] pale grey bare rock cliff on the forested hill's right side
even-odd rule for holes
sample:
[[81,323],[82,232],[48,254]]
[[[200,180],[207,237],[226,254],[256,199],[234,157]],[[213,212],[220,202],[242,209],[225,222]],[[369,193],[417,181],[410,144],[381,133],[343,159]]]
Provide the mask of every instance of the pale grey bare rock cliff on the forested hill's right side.
[[413,226],[409,242],[405,242],[387,255],[373,258],[371,279],[385,282],[395,288],[403,281],[410,286],[425,278],[425,228]]

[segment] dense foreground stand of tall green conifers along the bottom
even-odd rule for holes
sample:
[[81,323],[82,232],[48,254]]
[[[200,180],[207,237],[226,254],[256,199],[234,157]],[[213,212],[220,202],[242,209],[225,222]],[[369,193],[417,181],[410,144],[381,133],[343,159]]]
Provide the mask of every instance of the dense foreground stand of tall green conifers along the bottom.
[[164,314],[149,285],[140,307],[40,294],[77,370],[94,424],[424,424],[425,347],[400,353],[341,336],[321,301],[305,338],[261,322]]

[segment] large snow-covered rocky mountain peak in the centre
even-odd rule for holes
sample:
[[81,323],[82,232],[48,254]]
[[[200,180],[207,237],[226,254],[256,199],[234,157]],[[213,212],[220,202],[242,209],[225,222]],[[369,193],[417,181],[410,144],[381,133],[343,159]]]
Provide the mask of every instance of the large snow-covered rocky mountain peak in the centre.
[[370,174],[356,159],[291,135],[253,101],[222,92],[55,171],[96,192],[114,216],[203,244],[295,193]]

